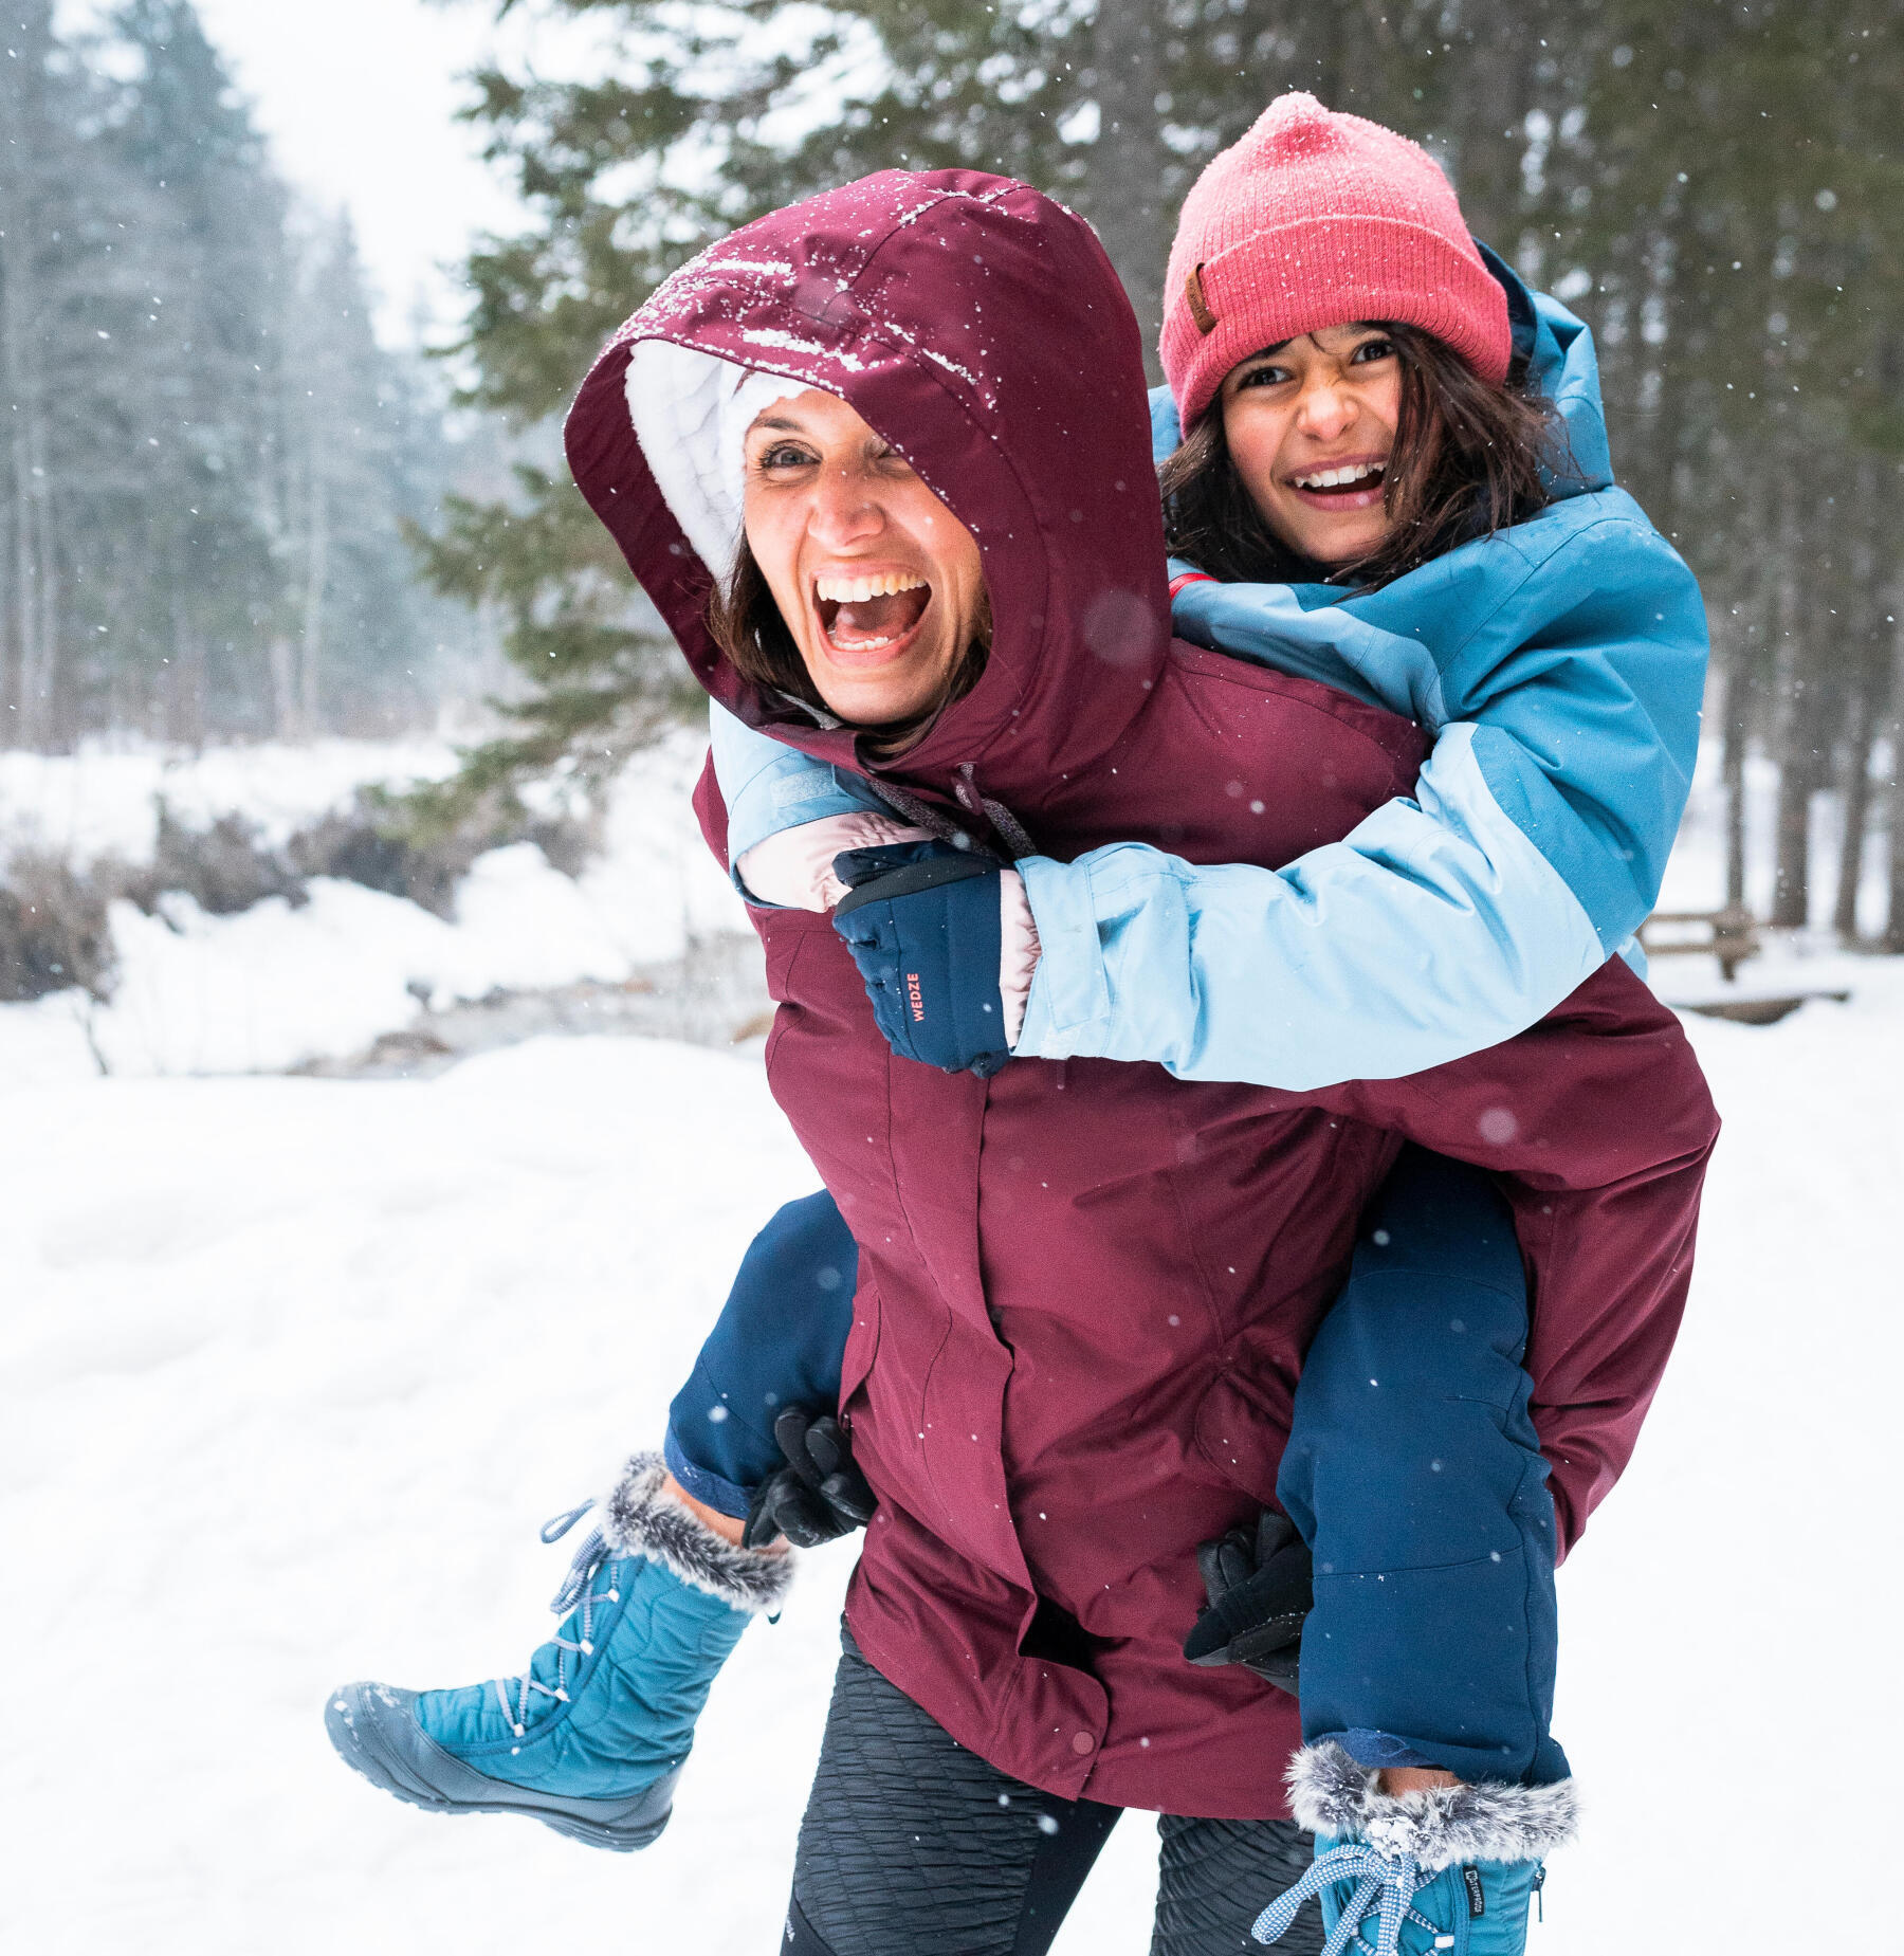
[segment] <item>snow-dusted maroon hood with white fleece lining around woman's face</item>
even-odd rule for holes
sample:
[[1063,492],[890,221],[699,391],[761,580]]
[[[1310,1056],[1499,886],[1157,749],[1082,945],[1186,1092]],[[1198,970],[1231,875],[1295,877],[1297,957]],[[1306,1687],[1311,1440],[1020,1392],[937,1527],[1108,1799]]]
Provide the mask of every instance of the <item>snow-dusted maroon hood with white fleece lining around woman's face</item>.
[[740,536],[740,436],[820,387],[978,540],[992,657],[892,771],[1035,798],[1125,730],[1170,638],[1137,321],[1090,227],[973,170],[884,170],[736,231],[611,340],[567,421],[575,481],[706,690],[861,771],[849,730],[755,689],[706,632]]

